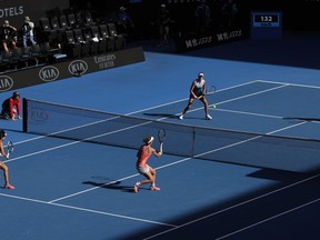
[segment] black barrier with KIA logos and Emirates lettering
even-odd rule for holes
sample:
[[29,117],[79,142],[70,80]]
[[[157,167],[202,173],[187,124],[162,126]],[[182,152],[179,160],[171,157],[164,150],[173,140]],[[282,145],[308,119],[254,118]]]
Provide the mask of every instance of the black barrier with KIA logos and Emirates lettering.
[[0,92],[144,61],[142,47],[70,59],[0,76]]

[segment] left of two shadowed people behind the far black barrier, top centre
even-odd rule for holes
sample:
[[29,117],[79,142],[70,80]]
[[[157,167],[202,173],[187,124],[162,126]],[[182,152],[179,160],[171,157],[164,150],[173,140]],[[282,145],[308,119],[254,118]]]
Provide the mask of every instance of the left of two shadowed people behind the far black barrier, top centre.
[[200,0],[200,3],[196,8],[194,12],[196,17],[196,33],[197,34],[206,34],[208,33],[211,10],[207,4],[206,0]]

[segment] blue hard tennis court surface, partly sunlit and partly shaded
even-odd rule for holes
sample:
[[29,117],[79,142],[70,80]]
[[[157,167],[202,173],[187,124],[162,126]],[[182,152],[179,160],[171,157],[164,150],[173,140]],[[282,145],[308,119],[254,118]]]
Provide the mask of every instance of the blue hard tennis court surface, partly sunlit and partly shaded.
[[[194,127],[204,137],[189,146],[189,133],[167,131],[164,154],[149,160],[161,190],[134,193],[143,179],[136,149],[24,133],[21,121],[2,120],[14,142],[3,161],[16,190],[0,190],[1,239],[318,239],[320,63],[306,53],[310,44],[293,61],[286,47],[296,41],[244,40],[184,54],[147,49],[141,63],[19,89],[23,98]],[[199,71],[218,89],[208,96],[213,119],[196,101],[179,120]],[[46,128],[80,118],[61,116]],[[122,132],[134,144],[158,130],[132,127]]]

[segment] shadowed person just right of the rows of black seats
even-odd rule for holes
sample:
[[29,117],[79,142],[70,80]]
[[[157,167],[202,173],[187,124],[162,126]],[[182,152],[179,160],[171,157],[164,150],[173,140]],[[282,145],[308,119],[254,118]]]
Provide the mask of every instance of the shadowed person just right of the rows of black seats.
[[133,21],[124,7],[120,7],[117,14],[117,31],[123,34],[126,38],[133,34]]

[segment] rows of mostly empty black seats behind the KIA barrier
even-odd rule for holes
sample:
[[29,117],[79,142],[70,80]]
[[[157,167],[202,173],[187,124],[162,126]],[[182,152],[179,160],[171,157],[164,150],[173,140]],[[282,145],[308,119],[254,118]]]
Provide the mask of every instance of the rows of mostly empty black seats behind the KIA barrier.
[[36,46],[19,44],[10,52],[1,49],[0,72],[39,67],[70,58],[120,50],[126,38],[112,22],[96,22],[89,11],[43,17],[36,23]]

